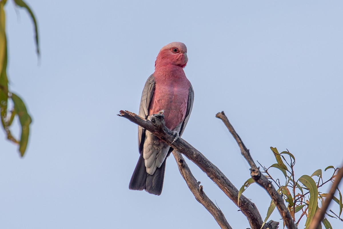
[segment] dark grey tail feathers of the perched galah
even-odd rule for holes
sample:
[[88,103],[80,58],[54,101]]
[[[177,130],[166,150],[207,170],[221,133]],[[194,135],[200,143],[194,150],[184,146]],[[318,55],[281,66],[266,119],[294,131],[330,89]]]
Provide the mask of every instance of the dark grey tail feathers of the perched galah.
[[161,195],[164,171],[166,168],[166,160],[162,163],[160,168],[156,168],[154,174],[150,175],[146,172],[144,158],[142,154],[139,156],[136,168],[133,171],[129,189],[131,190],[143,190],[154,195]]

